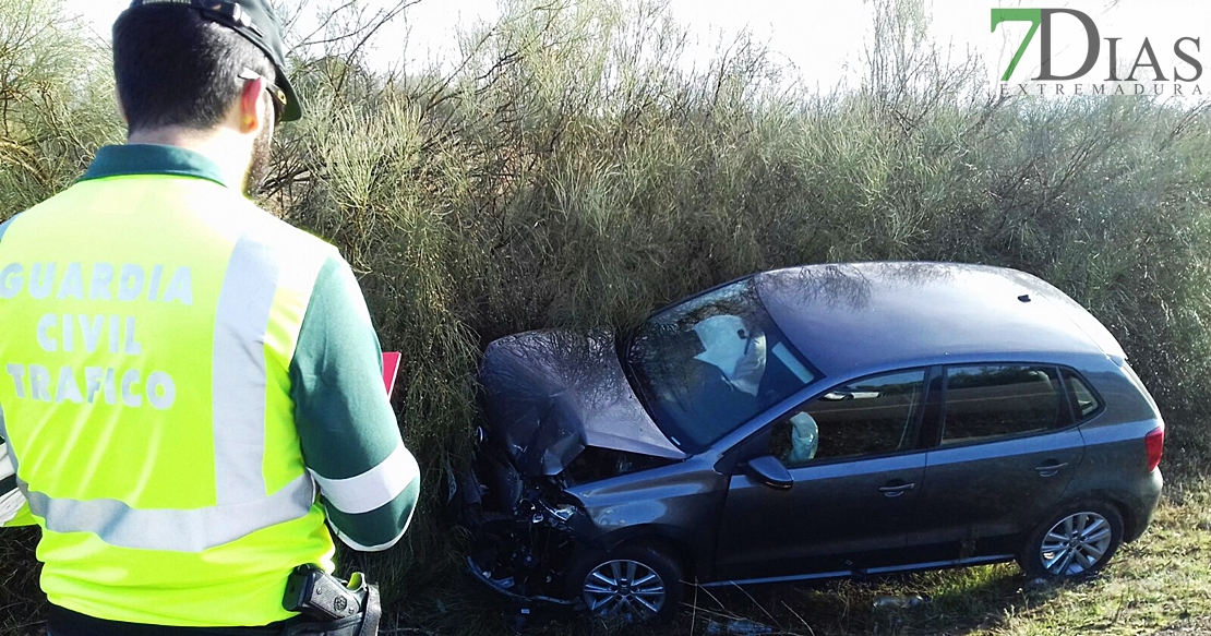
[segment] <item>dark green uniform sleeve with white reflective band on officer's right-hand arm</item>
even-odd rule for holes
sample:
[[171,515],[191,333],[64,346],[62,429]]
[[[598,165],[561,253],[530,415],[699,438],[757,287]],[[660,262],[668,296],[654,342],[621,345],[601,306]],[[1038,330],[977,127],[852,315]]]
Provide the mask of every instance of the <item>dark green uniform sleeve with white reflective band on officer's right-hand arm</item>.
[[420,492],[383,389],[383,354],[349,265],[320,269],[291,363],[303,457],[328,523],[355,550],[395,545]]

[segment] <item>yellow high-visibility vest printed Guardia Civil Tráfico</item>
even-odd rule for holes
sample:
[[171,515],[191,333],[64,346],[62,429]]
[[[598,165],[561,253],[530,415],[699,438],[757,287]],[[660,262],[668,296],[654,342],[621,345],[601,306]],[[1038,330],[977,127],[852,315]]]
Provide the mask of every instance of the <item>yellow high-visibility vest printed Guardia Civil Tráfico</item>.
[[0,240],[0,436],[68,609],[264,625],[332,569],[288,369],[334,248],[216,181],[82,181]]

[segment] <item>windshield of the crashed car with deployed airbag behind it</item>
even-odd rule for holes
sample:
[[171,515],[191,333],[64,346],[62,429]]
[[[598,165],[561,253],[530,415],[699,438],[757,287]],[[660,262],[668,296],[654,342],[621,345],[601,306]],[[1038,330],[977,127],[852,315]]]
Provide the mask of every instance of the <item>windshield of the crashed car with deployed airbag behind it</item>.
[[656,314],[625,359],[653,418],[690,452],[816,378],[765,313],[752,279]]

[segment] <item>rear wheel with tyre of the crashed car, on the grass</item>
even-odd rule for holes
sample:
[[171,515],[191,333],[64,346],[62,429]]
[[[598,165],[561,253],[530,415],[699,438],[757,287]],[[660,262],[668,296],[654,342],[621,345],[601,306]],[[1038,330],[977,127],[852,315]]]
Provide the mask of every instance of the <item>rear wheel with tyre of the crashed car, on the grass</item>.
[[1031,578],[1071,579],[1106,567],[1123,543],[1123,515],[1113,505],[1086,502],[1049,516],[1017,556]]

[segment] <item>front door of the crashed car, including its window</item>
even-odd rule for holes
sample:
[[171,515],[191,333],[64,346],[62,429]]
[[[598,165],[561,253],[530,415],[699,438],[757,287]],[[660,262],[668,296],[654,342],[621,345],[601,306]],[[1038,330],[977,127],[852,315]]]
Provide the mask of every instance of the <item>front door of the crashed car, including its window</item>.
[[716,578],[849,573],[903,548],[925,469],[925,372],[836,386],[750,439],[741,459],[776,458],[791,485],[771,487],[740,462],[719,523]]

